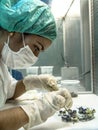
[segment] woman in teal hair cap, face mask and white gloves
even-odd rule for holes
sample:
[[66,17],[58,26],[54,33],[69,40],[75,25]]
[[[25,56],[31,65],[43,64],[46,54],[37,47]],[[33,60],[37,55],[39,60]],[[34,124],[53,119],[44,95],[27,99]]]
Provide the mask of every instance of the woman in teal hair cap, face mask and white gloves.
[[50,8],[40,0],[0,0],[0,107],[28,90],[47,89],[32,103],[0,110],[0,130],[29,129],[45,122],[64,106],[72,106],[67,89],[58,89],[54,76],[27,75],[15,80],[8,69],[33,65],[56,38]]

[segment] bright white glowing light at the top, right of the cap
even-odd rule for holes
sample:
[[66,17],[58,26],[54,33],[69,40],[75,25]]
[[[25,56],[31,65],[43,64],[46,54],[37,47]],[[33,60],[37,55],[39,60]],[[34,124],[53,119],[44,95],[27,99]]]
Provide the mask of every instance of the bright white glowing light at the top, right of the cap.
[[[51,10],[56,18],[65,16],[73,0],[52,0]],[[80,15],[80,0],[75,0],[70,15]]]

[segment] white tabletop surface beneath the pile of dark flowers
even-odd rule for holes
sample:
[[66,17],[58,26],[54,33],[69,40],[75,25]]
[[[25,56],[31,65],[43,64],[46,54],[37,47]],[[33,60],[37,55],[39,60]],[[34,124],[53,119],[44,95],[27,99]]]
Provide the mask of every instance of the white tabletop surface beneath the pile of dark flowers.
[[[11,104],[6,104],[6,106]],[[48,118],[48,120],[38,126],[33,127],[30,130],[98,130],[98,96],[94,94],[79,94],[77,98],[73,98],[73,107],[76,109],[83,106],[94,108],[96,110],[95,119],[85,122],[67,123],[62,122],[61,117],[58,116],[58,112],[55,115]],[[23,128],[19,130],[24,130]]]

